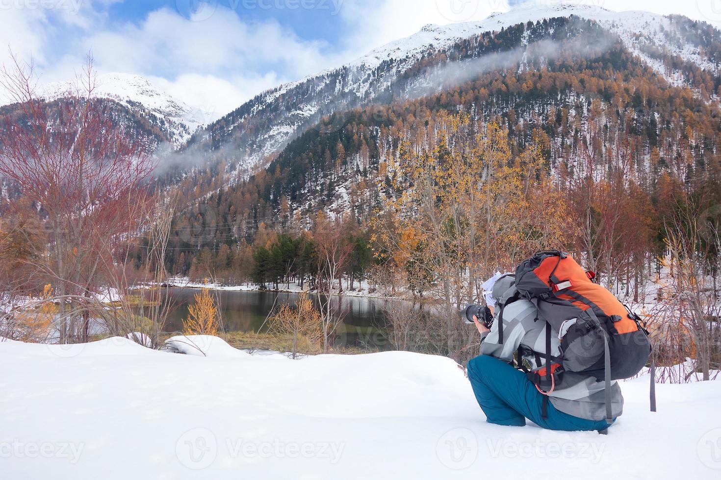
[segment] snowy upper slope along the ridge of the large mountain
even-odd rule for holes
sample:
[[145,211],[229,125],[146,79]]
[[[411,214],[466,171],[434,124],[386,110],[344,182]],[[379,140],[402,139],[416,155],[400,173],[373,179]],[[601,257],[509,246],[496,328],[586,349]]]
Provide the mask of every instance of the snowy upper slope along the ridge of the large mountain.
[[[662,61],[644,53],[644,46],[659,47],[668,55],[679,55],[700,68],[718,70],[716,63],[710,62],[697,45],[675,35],[667,17],[649,12],[611,12],[591,5],[528,4],[510,12],[492,14],[480,22],[426,25],[415,35],[390,42],[340,68],[286,83],[256,96],[211,124],[195,141],[208,141],[212,137],[213,148],[229,145],[239,171],[252,172],[263,158],[276,153],[322,117],[373,102],[419,60],[433,53],[484,32],[572,15],[596,21],[619,35],[632,53],[673,84],[683,83],[683,78],[679,73],[666,71]],[[423,83],[422,78],[417,81]]]

